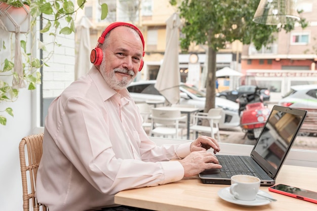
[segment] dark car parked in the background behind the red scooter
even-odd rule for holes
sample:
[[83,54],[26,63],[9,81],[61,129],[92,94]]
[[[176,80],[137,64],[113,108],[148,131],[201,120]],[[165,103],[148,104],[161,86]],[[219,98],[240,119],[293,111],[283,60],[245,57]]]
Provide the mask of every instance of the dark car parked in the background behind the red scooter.
[[[257,86],[254,85],[242,85],[236,87],[234,90],[230,91],[221,91],[216,93],[217,97],[221,97],[224,99],[229,99],[231,101],[236,101],[236,99],[242,95],[242,94],[252,94],[255,92]],[[270,100],[270,91],[268,89],[261,88],[260,94],[263,97],[263,101],[269,101]]]

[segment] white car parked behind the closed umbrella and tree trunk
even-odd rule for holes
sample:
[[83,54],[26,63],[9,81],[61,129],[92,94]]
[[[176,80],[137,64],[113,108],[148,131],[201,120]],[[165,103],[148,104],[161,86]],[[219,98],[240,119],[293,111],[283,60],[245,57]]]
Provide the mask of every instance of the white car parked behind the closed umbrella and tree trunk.
[[[165,101],[165,97],[155,89],[155,80],[132,82],[128,90],[135,102],[145,102],[146,100]],[[205,109],[206,93],[199,91],[195,87],[184,83],[180,85],[180,104],[192,104],[201,111]],[[240,125],[239,104],[231,100],[216,97],[215,107],[223,109],[224,115],[221,118],[219,127],[221,129],[232,128]]]

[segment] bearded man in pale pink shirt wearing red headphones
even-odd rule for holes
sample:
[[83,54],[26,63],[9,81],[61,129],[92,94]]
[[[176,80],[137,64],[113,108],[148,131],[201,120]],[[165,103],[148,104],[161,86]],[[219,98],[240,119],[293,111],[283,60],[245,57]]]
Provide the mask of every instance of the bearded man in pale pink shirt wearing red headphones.
[[207,151],[220,150],[215,139],[157,146],[147,137],[126,88],[141,71],[143,56],[137,27],[110,24],[92,50],[89,73],[51,103],[36,179],[38,202],[50,211],[144,210],[114,204],[114,194],[221,168]]

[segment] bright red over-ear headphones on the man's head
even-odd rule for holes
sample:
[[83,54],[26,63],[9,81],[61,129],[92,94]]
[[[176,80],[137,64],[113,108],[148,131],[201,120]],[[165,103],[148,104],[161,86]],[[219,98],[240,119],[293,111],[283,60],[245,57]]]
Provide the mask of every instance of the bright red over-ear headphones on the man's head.
[[[115,27],[118,27],[118,26],[129,26],[131,28],[133,28],[140,36],[141,38],[141,41],[142,41],[142,45],[143,45],[143,53],[142,53],[142,57],[144,57],[144,38],[143,38],[143,35],[141,33],[141,31],[135,26],[135,25],[132,25],[130,23],[125,23],[125,22],[114,22],[112,24],[110,24],[103,32],[102,32],[102,35],[99,37],[98,39],[98,43],[95,47],[95,49],[93,49],[90,53],[90,62],[93,63],[94,65],[100,65],[101,62],[102,62],[102,49],[99,47],[99,44],[102,44],[106,35],[109,33],[109,31],[111,31],[112,29],[114,29]],[[143,65],[144,65],[144,61],[143,61],[143,58],[141,59],[141,63],[140,63],[140,68],[139,68],[139,71],[142,70],[143,68]]]

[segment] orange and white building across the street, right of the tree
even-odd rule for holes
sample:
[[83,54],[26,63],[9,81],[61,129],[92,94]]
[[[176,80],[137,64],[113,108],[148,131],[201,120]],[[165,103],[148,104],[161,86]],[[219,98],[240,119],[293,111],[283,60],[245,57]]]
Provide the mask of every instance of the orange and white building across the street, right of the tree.
[[267,87],[271,100],[279,100],[292,85],[317,84],[317,2],[297,0],[296,7],[309,23],[302,29],[298,24],[289,33],[282,30],[276,34],[276,41],[260,50],[244,45],[242,51],[242,73],[249,77],[249,83]]

